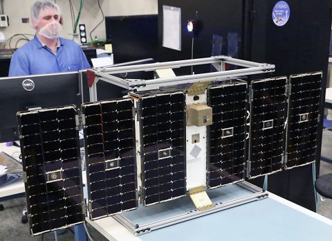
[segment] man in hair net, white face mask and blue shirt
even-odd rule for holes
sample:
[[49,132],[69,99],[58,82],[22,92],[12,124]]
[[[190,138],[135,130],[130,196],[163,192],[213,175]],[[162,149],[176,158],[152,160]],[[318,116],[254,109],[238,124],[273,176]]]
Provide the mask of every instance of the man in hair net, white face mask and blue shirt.
[[35,1],[31,7],[30,23],[35,28],[36,35],[12,55],[9,76],[91,68],[78,44],[59,37],[62,17],[56,3],[48,0]]

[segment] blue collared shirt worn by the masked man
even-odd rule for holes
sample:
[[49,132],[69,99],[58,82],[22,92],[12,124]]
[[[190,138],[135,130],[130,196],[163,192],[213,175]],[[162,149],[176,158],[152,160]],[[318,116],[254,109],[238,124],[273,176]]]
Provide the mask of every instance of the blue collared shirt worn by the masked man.
[[82,48],[70,39],[59,37],[56,54],[43,46],[37,35],[12,55],[9,76],[79,71],[91,68]]

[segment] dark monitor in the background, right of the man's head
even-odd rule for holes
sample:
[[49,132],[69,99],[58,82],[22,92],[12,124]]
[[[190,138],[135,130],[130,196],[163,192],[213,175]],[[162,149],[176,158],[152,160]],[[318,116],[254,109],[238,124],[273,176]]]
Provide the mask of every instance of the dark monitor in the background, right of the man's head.
[[158,15],[105,17],[114,63],[154,58],[158,51]]

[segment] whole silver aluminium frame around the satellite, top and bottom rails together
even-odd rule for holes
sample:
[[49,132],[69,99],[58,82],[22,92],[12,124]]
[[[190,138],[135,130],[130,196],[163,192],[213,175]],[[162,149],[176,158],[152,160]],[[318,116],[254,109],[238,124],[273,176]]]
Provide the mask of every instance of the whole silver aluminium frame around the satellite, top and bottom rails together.
[[[216,69],[216,72],[212,73],[200,73],[196,75],[183,75],[172,78],[159,78],[153,80],[136,80],[136,79],[122,79],[114,76],[116,73],[126,73],[126,72],[136,72],[136,71],[156,71],[157,69],[169,69],[169,68],[181,68],[183,66],[194,66],[201,64],[212,64]],[[240,66],[242,69],[234,69],[230,71],[225,71],[225,64],[233,64]],[[262,64],[257,62],[250,62],[246,60],[234,59],[228,56],[215,56],[206,57],[195,60],[180,60],[173,62],[162,62],[155,64],[138,64],[132,66],[108,66],[98,69],[93,69],[95,74],[95,79],[91,81],[90,100],[98,101],[97,98],[97,82],[99,80],[109,82],[116,86],[122,87],[124,89],[129,89],[131,91],[147,91],[153,89],[159,89],[159,87],[170,87],[178,84],[192,84],[196,82],[205,81],[224,81],[233,78],[240,78],[246,75],[253,75],[258,73],[268,73],[275,71],[275,65],[273,64]],[[141,235],[148,233],[150,231],[163,228],[172,224],[179,222],[184,222],[187,220],[192,220],[196,217],[201,217],[208,215],[210,213],[216,213],[218,211],[225,210],[227,208],[232,208],[234,206],[239,206],[241,204],[246,204],[248,202],[253,202],[259,199],[264,199],[268,197],[268,192],[257,186],[254,186],[246,181],[238,182],[237,185],[250,190],[249,195],[244,195],[239,198],[232,199],[227,202],[218,202],[214,208],[210,208],[205,211],[197,211],[188,207],[185,213],[178,213],[178,215],[169,215],[166,218],[160,218],[160,220],[152,221],[149,224],[136,224],[131,222],[128,217],[124,214],[113,215],[113,217],[120,222],[123,226],[127,227],[129,231],[132,231],[135,235]]]

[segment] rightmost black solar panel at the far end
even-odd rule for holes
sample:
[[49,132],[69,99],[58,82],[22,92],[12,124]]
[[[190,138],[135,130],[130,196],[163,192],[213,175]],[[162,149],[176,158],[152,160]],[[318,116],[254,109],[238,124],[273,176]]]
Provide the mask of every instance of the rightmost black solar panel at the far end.
[[285,168],[315,161],[322,72],[291,75]]

